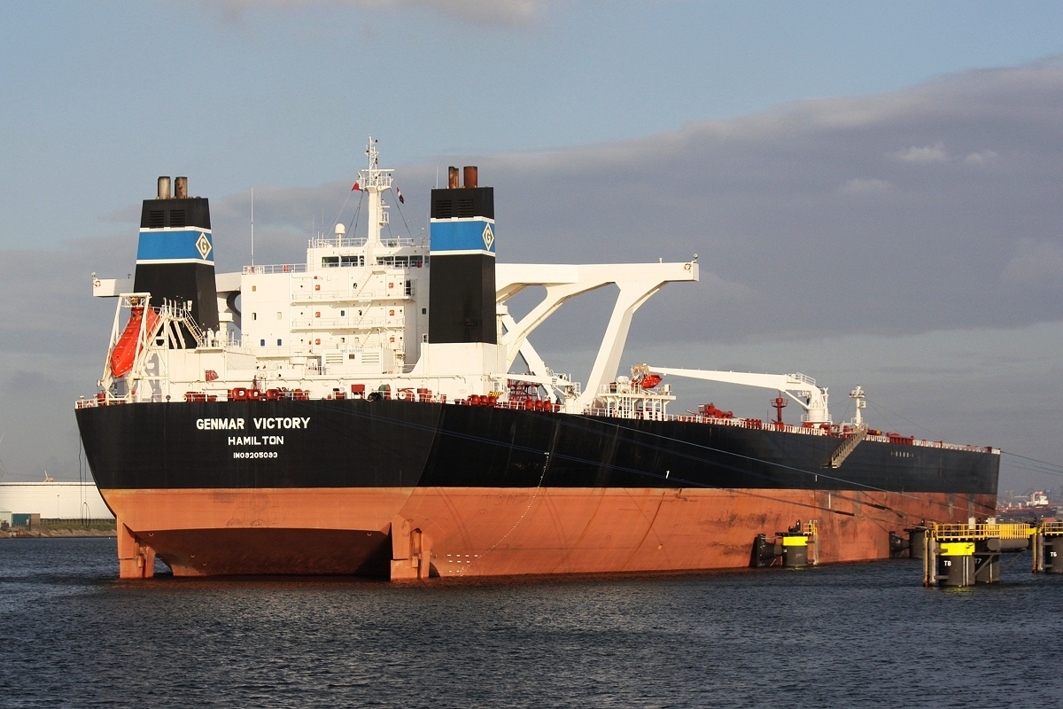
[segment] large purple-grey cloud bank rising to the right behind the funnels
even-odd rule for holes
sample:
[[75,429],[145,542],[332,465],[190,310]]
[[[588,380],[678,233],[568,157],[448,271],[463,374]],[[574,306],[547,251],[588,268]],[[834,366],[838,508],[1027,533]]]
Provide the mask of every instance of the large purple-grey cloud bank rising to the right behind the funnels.
[[[1048,65],[800,101],[614,144],[439,164],[478,165],[482,183],[495,187],[502,260],[701,254],[703,283],[655,296],[632,341],[915,334],[1063,320],[1063,299],[1044,298],[1059,281],[1061,128],[1063,67]],[[948,154],[968,157],[939,159]],[[912,170],[913,161],[941,169]],[[395,176],[406,204],[393,206],[389,229],[419,238],[435,168]],[[256,188],[256,263],[301,261],[311,232],[330,232],[337,216],[364,233],[360,198],[345,180]],[[322,204],[333,205],[324,229]],[[250,253],[250,196],[212,205],[219,268],[238,269]],[[671,324],[647,324],[662,322]]]

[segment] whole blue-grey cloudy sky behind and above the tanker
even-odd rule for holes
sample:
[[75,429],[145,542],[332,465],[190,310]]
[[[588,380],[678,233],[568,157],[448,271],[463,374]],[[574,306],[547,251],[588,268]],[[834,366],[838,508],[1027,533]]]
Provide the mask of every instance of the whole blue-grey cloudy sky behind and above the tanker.
[[[220,269],[252,188],[256,263],[299,261],[370,134],[411,233],[437,170],[476,164],[500,259],[697,253],[625,362],[802,371],[836,419],[859,384],[873,426],[1063,463],[1063,12],[880,5],[0,5],[0,475],[78,477],[114,313],[89,274],[132,272],[157,175],[210,199]],[[613,296],[537,331],[556,371],[586,378]],[[674,385],[749,416],[772,393]],[[1001,492],[1063,488],[1033,468],[1006,457]]]

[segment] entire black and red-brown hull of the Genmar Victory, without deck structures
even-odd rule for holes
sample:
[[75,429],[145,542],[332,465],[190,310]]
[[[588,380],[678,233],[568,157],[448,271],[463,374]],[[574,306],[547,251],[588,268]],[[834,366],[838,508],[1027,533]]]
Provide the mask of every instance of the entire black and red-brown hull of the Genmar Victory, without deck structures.
[[823,561],[881,558],[889,530],[992,514],[999,461],[865,440],[831,469],[843,438],[389,400],[77,415],[123,575],[155,553],[182,574],[726,568],[800,519]]

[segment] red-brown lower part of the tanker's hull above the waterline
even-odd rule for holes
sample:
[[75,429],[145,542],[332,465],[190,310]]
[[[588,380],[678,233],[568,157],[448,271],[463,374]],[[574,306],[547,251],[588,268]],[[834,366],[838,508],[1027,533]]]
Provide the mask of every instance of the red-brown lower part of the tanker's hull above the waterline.
[[890,531],[966,521],[993,495],[652,488],[101,490],[123,577],[385,578],[735,569],[816,520],[820,563],[888,558]]

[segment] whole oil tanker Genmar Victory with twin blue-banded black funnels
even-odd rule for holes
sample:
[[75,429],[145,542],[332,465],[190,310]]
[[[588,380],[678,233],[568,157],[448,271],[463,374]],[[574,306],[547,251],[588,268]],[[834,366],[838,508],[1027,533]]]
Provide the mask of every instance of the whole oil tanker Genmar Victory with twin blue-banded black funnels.
[[[892,531],[993,514],[998,450],[871,428],[860,387],[836,423],[800,373],[621,374],[636,310],[696,282],[696,256],[495,264],[494,192],[475,167],[431,191],[426,238],[396,236],[404,198],[374,140],[366,153],[349,198],[365,234],[357,219],[315,234],[305,264],[216,273],[207,200],[159,178],[135,276],[94,274],[117,307],[75,415],[121,577],[152,576],[156,557],[181,576],[725,569],[757,563],[758,538],[780,529],[821,563],[855,561],[890,556]],[[608,285],[584,386],[529,336]],[[545,294],[518,319],[507,304],[529,287]],[[681,377],[774,391],[778,416],[671,413]]]

